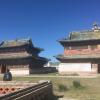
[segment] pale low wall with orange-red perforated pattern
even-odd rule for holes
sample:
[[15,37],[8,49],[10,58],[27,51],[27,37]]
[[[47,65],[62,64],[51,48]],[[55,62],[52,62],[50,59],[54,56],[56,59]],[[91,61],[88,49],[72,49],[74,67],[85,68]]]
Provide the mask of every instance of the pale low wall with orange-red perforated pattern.
[[37,83],[29,83],[29,82],[16,82],[16,81],[1,81],[0,82],[0,96],[6,95],[28,86],[35,85]]

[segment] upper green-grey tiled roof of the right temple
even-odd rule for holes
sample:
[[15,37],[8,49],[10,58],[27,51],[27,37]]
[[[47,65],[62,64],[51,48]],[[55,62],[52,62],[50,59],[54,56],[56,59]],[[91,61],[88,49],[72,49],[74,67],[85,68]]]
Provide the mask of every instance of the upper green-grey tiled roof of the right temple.
[[96,27],[92,30],[71,32],[69,37],[59,40],[59,42],[67,41],[87,41],[87,40],[99,40],[100,39],[100,28]]

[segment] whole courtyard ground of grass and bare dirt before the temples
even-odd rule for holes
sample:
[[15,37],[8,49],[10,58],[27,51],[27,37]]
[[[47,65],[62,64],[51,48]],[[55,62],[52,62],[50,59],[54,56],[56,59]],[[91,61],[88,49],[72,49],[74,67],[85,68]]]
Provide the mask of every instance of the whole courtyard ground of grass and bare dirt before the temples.
[[[100,100],[100,76],[78,77],[78,76],[54,76],[54,75],[31,75],[14,76],[13,81],[36,82],[39,80],[51,80],[55,100]],[[0,77],[2,81],[2,77]],[[76,88],[74,81],[78,81],[81,87]],[[58,99],[59,98],[59,99]]]

